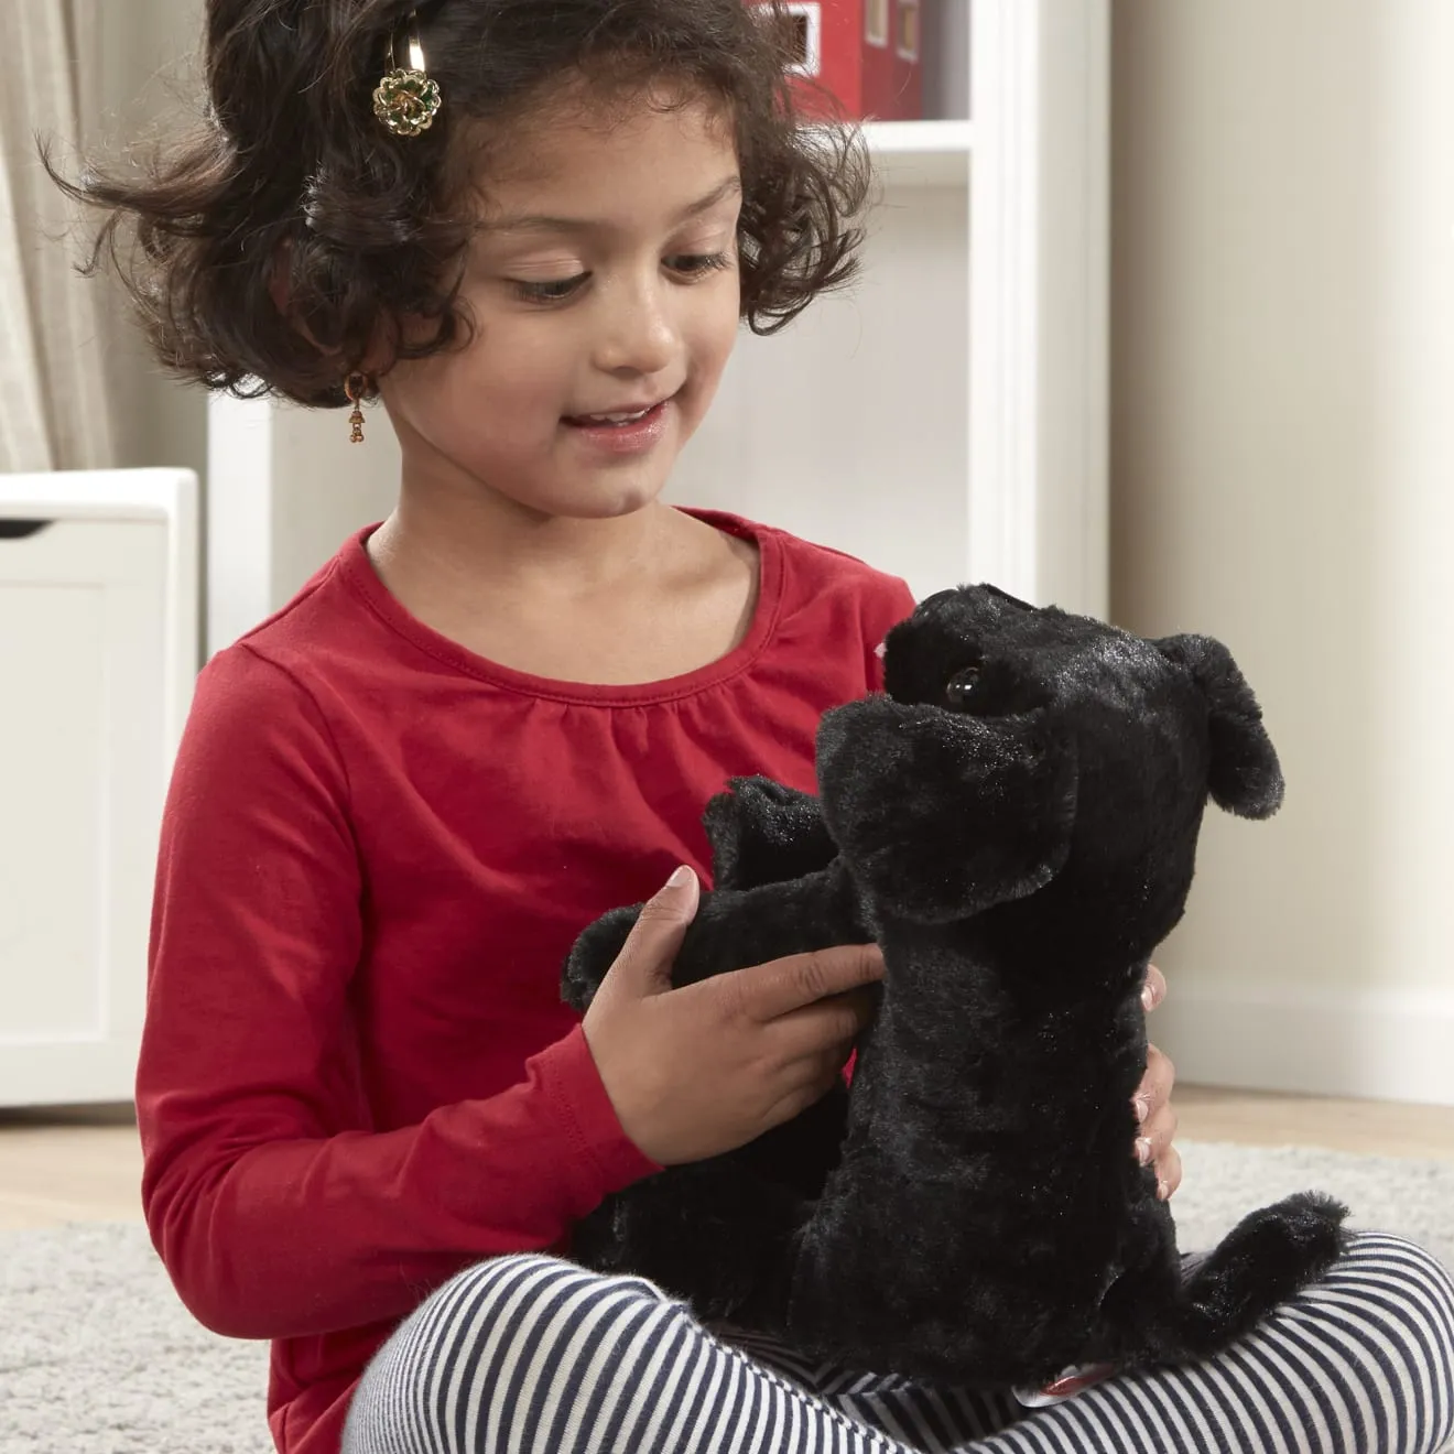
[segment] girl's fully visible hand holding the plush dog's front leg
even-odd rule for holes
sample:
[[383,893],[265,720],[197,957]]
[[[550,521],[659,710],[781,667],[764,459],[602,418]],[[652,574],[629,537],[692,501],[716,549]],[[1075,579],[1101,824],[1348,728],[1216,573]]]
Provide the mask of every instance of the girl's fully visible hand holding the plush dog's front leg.
[[696,915],[691,869],[646,904],[583,1029],[621,1128],[662,1166],[730,1152],[838,1080],[872,1016],[875,945],[795,954],[672,989]]

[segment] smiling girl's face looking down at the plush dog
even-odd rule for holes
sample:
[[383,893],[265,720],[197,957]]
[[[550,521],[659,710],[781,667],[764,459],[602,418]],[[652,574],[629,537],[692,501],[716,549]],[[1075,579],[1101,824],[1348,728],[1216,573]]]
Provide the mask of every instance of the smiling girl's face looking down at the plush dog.
[[461,294],[474,337],[379,384],[406,496],[630,513],[666,484],[737,336],[730,126],[705,103],[625,111],[577,89],[491,156]]

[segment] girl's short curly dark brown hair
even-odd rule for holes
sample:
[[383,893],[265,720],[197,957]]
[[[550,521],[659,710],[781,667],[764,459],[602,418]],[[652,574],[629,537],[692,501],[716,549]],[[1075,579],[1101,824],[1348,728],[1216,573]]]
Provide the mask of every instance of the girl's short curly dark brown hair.
[[[423,135],[394,137],[372,92],[414,10],[445,105]],[[393,362],[467,337],[458,291],[478,214],[461,151],[477,157],[573,73],[627,96],[686,83],[721,106],[753,332],[856,269],[867,150],[849,126],[800,126],[785,28],[744,0],[208,0],[206,13],[201,129],[140,177],[51,174],[109,214],[84,270],[113,265],[161,361],[209,388],[340,406],[379,339]],[[406,342],[404,316],[432,336]]]

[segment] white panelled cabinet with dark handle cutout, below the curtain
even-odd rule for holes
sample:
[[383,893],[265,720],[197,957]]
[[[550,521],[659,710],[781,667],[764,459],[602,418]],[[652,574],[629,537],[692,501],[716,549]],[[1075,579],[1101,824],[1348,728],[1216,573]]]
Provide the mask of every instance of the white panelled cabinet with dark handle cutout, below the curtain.
[[0,1105],[131,1098],[196,481],[0,475]]

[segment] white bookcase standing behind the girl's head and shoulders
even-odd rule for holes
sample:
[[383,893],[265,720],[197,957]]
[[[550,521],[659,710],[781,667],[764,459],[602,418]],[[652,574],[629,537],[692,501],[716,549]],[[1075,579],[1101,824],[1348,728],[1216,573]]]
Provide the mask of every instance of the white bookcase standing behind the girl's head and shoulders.
[[[868,126],[853,288],[743,336],[670,497],[904,576],[1106,611],[1109,0],[926,0],[923,122]],[[387,513],[385,430],[211,406],[209,646]]]

